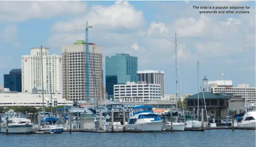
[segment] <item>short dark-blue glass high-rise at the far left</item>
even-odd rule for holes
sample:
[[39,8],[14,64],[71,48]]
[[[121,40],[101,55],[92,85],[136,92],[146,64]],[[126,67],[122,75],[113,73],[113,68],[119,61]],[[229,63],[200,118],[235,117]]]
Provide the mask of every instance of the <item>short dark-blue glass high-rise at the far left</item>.
[[9,74],[4,74],[4,88],[22,92],[22,69],[12,69]]

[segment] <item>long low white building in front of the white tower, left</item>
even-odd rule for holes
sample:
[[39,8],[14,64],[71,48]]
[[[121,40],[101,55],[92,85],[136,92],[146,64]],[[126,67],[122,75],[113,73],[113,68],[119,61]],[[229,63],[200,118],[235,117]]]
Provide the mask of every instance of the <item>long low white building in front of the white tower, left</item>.
[[[61,94],[52,95],[52,106],[72,105],[73,101],[62,99]],[[43,107],[43,98],[41,94],[31,93],[0,93],[0,107]],[[51,106],[51,95],[44,95],[44,107]]]

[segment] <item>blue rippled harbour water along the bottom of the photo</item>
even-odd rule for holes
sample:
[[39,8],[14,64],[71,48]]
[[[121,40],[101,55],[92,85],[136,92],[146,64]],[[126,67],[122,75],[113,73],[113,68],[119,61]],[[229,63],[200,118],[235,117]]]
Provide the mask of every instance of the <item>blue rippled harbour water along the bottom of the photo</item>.
[[255,147],[255,130],[204,132],[0,134],[0,147]]

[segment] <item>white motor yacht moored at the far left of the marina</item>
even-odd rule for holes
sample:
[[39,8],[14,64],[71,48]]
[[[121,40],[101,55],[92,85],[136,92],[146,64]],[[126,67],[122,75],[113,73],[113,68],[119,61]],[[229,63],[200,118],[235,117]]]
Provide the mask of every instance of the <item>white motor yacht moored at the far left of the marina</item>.
[[[21,112],[10,110],[5,113],[8,117],[8,133],[9,134],[30,134],[30,129],[33,126],[30,119],[27,119]],[[7,119],[4,119],[0,126],[1,133],[6,133]]]

